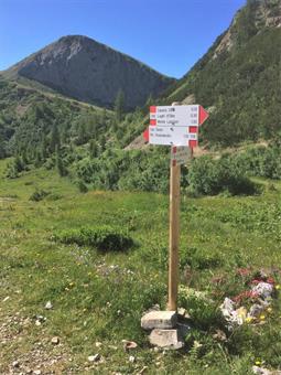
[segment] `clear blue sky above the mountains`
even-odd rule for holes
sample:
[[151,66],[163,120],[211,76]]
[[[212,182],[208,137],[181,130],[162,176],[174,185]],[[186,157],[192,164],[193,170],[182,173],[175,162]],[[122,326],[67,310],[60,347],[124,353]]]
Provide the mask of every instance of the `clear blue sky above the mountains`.
[[82,34],[181,77],[246,0],[0,0],[0,71]]

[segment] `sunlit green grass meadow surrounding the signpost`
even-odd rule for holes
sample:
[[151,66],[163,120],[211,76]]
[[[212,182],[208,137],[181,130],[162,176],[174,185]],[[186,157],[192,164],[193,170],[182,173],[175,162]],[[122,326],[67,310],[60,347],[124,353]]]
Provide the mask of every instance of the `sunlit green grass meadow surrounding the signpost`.
[[[0,162],[0,175],[6,163]],[[191,346],[163,355],[150,350],[140,318],[152,304],[164,309],[166,303],[169,197],[82,194],[68,179],[45,170],[15,180],[1,178],[0,373],[8,373],[15,360],[19,372],[29,366],[56,374],[137,374],[144,366],[149,374],[250,374],[259,358],[264,366],[278,368],[279,302],[264,325],[237,330],[227,344],[212,339],[216,306],[239,289],[236,269],[275,269],[281,264],[281,185],[275,188],[253,197],[183,197],[181,283],[218,297],[215,309],[181,300],[197,311],[198,326],[209,323],[209,329],[194,329],[203,349]],[[50,194],[40,202],[30,201],[36,189]],[[129,231],[137,245],[126,253],[100,253],[52,239],[58,231],[99,225]],[[227,282],[214,285],[215,277]],[[48,300],[52,310],[44,309]],[[40,314],[46,321],[37,326]],[[56,335],[60,345],[52,345]],[[122,340],[136,341],[138,349],[126,353]],[[104,361],[91,365],[87,357],[96,353]],[[129,362],[129,355],[137,357],[136,363]]]

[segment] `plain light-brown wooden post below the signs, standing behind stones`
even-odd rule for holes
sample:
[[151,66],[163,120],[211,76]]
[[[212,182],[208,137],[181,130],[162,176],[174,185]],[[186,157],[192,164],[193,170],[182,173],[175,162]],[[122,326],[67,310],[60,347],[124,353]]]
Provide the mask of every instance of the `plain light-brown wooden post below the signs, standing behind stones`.
[[169,255],[169,300],[167,310],[177,309],[179,245],[180,245],[180,195],[181,165],[171,160],[170,167],[170,255]]

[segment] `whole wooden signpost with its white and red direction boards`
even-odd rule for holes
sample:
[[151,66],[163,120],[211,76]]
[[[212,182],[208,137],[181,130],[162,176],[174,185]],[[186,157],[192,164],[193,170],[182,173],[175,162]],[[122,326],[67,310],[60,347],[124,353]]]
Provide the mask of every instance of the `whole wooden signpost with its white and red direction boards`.
[[170,240],[167,310],[177,309],[181,164],[192,158],[198,144],[198,127],[208,118],[199,105],[152,106],[150,126],[143,138],[150,144],[171,146],[170,161]]

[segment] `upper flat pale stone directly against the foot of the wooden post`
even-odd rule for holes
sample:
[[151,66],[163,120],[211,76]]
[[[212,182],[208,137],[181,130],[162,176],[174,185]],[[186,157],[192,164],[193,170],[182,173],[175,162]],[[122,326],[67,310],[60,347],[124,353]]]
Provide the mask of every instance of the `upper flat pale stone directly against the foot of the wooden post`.
[[141,318],[141,326],[144,330],[173,329],[176,322],[175,311],[151,311]]

